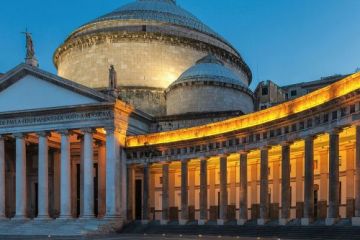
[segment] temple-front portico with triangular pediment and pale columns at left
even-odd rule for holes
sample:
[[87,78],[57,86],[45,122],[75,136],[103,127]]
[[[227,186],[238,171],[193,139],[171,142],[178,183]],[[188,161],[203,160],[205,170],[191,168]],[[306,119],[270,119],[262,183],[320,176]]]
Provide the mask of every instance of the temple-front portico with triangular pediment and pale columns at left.
[[[28,65],[3,79],[0,98],[17,97],[18,109],[0,106],[0,217],[122,221],[119,170],[132,108]],[[47,88],[55,99],[40,95],[27,103],[14,95],[29,82],[33,92]]]

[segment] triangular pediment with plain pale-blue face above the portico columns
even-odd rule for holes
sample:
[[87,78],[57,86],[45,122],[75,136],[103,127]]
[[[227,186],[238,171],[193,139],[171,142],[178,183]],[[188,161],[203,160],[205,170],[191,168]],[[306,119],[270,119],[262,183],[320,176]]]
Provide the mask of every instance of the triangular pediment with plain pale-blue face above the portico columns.
[[22,64],[0,81],[0,112],[59,108],[109,102],[98,91]]

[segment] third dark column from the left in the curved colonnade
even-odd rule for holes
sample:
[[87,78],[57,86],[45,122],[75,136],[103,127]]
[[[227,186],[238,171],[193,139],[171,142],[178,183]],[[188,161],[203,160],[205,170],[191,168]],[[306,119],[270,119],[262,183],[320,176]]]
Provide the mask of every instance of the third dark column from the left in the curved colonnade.
[[188,160],[181,160],[181,218],[180,225],[185,225],[189,221],[188,204]]

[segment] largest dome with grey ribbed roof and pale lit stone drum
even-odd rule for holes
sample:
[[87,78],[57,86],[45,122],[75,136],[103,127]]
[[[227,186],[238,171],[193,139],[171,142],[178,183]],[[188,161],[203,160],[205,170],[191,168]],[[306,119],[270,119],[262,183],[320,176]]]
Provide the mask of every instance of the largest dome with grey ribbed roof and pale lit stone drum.
[[208,54],[250,84],[251,71],[238,51],[175,0],[138,0],[75,30],[56,50],[54,63],[60,76],[98,89],[108,86],[114,65],[121,97],[163,115],[163,91]]

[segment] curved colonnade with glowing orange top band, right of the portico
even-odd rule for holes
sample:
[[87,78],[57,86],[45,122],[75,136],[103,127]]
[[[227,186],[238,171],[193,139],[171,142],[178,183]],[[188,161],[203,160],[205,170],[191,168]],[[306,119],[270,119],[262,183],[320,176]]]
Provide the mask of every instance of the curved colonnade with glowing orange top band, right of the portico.
[[128,167],[150,168],[134,174],[152,189],[144,222],[359,225],[359,77],[238,118],[127,137]]

